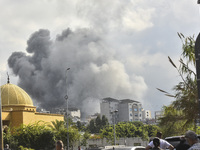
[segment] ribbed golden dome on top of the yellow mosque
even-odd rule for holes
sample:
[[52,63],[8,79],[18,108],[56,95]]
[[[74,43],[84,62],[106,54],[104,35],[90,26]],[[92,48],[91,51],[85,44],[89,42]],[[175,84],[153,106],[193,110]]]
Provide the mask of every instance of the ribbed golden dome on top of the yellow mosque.
[[33,106],[30,96],[19,86],[10,83],[1,86],[1,102],[2,106]]

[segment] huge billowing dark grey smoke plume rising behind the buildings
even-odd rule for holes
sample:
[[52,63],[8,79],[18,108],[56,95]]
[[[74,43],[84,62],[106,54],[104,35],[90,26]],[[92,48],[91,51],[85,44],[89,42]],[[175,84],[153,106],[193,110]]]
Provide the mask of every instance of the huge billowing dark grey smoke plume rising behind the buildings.
[[93,30],[66,29],[53,39],[50,31],[40,29],[30,36],[26,51],[12,53],[9,67],[34,104],[47,110],[63,107],[67,93],[69,106],[92,114],[99,112],[99,99],[138,100],[147,89],[144,79],[130,76],[115,50]]

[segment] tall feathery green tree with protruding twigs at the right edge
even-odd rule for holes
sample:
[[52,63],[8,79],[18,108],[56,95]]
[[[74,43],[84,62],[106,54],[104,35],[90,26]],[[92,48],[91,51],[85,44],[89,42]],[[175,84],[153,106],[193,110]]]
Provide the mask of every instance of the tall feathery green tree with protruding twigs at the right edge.
[[[184,131],[193,124],[194,130],[196,130],[199,108],[196,73],[193,71],[196,66],[195,40],[194,36],[185,37],[181,33],[178,33],[178,36],[183,44],[183,52],[179,59],[179,67],[175,65],[170,57],[168,58],[172,66],[178,71],[181,81],[173,88],[175,94],[170,94],[164,90],[158,89],[165,93],[165,95],[175,98],[170,106],[164,107],[165,113],[164,117],[161,118],[161,125],[166,124],[168,126],[169,123],[171,123],[170,126],[173,126],[173,128],[182,125],[182,131]],[[172,112],[170,113],[169,110],[172,110]],[[173,120],[176,120],[176,122]],[[180,124],[178,125],[177,123]]]

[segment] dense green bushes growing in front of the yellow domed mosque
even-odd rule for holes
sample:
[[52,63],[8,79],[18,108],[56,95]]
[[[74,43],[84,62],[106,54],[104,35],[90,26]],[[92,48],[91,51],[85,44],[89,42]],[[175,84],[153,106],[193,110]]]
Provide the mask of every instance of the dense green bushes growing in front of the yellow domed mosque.
[[67,130],[63,121],[54,121],[51,126],[37,122],[21,125],[12,130],[8,128],[4,133],[4,143],[9,144],[12,149],[49,150],[55,148],[56,140],[62,140],[67,146],[67,133],[69,133],[69,146],[72,146],[73,142],[78,141],[80,137],[77,129],[69,127]]

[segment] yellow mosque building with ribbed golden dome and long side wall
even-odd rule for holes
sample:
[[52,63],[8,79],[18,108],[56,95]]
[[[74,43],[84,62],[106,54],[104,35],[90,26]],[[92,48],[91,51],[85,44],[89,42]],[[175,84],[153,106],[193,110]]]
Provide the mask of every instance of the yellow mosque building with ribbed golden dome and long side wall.
[[36,112],[31,97],[19,86],[8,82],[1,86],[2,122],[5,126],[18,127],[21,124],[31,124],[38,121],[51,123],[64,121],[61,114]]

